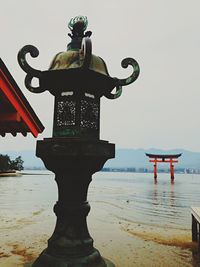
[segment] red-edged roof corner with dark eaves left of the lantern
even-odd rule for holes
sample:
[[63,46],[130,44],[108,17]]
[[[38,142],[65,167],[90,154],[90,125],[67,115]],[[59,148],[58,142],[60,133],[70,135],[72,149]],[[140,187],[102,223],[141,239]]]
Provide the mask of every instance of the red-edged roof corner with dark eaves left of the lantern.
[[0,58],[0,135],[11,133],[37,137],[44,126]]

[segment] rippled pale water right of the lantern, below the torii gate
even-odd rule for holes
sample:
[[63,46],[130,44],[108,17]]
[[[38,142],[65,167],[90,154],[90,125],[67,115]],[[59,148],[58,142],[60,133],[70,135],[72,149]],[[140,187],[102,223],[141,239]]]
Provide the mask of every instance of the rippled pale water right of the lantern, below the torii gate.
[[126,220],[190,229],[190,207],[200,206],[200,175],[177,174],[171,183],[168,174],[160,174],[154,183],[151,174],[99,173],[90,193],[96,201],[123,208],[123,213],[113,209],[113,214]]

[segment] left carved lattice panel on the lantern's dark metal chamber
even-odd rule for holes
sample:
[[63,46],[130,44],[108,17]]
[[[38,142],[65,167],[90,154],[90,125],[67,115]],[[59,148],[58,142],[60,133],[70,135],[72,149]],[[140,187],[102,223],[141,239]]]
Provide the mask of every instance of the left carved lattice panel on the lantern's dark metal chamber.
[[60,100],[57,102],[57,126],[75,125],[75,102],[70,100]]

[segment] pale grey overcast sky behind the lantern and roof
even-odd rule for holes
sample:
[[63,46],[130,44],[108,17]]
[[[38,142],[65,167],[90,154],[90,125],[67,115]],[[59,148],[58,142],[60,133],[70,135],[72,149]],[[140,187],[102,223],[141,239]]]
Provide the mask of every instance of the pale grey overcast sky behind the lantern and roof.
[[[31,66],[46,70],[70,38],[68,21],[88,17],[93,53],[111,76],[126,78],[125,57],[140,65],[138,80],[124,87],[117,100],[102,98],[101,139],[119,148],[185,148],[200,151],[200,1],[199,0],[1,0],[0,57],[45,126],[52,132],[53,96],[32,94],[18,51],[35,45],[40,55]],[[1,150],[35,149],[36,140],[9,134]]]

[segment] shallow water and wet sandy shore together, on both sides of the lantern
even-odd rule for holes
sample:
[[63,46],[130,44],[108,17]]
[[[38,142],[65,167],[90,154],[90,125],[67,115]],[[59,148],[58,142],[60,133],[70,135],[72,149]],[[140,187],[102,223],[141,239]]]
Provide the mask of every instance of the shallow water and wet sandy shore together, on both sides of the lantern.
[[[2,267],[34,260],[55,226],[54,174],[31,173],[0,178]],[[95,246],[116,267],[200,266],[199,254],[193,253],[190,214],[191,206],[200,205],[199,184],[200,175],[177,174],[171,184],[168,174],[159,174],[155,184],[152,174],[95,174],[88,192]]]

